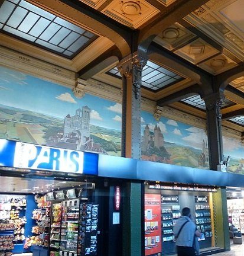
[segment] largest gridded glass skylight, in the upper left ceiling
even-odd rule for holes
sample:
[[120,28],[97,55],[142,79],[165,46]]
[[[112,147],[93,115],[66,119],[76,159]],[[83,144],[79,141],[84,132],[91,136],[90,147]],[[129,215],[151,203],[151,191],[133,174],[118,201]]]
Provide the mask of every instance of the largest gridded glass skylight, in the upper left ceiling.
[[0,8],[0,31],[70,59],[97,38],[24,0],[4,1]]

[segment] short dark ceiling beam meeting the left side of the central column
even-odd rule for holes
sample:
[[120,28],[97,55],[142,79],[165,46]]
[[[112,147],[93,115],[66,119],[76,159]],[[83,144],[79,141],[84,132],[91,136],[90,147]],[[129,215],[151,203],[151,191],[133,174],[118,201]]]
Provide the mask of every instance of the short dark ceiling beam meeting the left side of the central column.
[[92,76],[101,72],[106,67],[110,66],[119,60],[121,54],[116,46],[112,46],[110,49],[106,50],[102,55],[97,57],[95,60],[90,62],[86,67],[81,69],[79,73],[79,78],[87,80],[92,78]]

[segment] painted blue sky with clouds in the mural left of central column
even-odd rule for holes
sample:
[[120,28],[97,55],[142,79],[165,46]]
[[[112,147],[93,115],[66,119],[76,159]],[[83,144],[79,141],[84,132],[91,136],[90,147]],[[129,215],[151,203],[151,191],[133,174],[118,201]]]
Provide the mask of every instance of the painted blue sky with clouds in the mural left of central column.
[[[2,105],[41,114],[48,113],[50,116],[62,120],[67,114],[73,116],[77,108],[88,105],[92,110],[92,124],[121,130],[121,104],[112,103],[89,94],[86,94],[82,99],[77,99],[70,88],[8,68],[0,67],[0,73]],[[41,88],[38,89],[38,95],[37,88]]]

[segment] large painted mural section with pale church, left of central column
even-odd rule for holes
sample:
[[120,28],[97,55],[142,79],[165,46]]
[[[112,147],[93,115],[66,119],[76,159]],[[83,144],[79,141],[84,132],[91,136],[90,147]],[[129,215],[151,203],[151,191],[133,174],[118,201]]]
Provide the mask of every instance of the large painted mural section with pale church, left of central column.
[[121,155],[121,104],[0,67],[0,137]]

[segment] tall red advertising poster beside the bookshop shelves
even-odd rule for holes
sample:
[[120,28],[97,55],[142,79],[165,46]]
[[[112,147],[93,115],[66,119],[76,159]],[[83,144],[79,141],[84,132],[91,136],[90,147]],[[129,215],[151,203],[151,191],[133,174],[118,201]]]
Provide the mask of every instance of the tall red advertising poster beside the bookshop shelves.
[[145,194],[145,255],[161,255],[161,197]]

